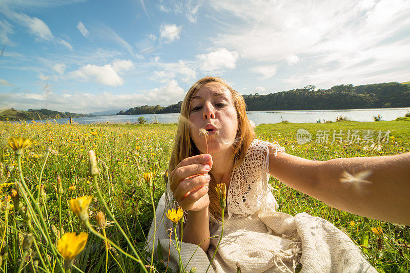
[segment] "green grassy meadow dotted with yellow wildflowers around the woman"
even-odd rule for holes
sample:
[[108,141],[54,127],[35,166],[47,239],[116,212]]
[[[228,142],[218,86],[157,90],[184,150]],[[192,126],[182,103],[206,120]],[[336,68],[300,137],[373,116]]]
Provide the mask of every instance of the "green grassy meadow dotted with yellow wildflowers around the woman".
[[[71,268],[73,272],[152,270],[149,266],[141,266],[151,264],[147,261],[151,254],[143,250],[145,236],[153,218],[152,201],[156,204],[165,189],[163,174],[168,167],[176,128],[176,124],[57,125],[46,122],[0,122],[0,257],[3,258],[0,271],[15,272],[20,264],[23,271],[64,270],[63,259],[56,253],[57,242],[64,232],[89,234],[85,249],[75,258],[74,267]],[[298,129],[308,130],[312,134],[312,141],[299,145],[296,141]],[[289,154],[329,160],[408,152],[409,129],[410,122],[403,119],[381,122],[262,124],[255,131],[257,138],[278,141]],[[316,143],[318,134],[326,130],[329,130],[329,140]],[[358,130],[360,137],[365,134],[365,130],[374,130],[376,136],[379,130],[389,130],[389,134],[380,145],[371,146],[372,143],[350,144],[346,137],[342,139],[342,143],[339,140],[331,143],[333,130],[336,133],[342,130],[345,134],[348,130]],[[21,158],[23,177],[19,176],[14,151],[7,144],[9,137],[18,136],[35,141]],[[95,181],[89,175],[89,150],[95,151],[98,158],[97,166],[100,170]],[[144,174],[149,172],[153,174],[151,185],[144,180]],[[27,184],[26,191],[19,187],[19,182],[23,179]],[[14,183],[15,181],[19,182]],[[329,220],[357,243],[368,261],[380,272],[410,270],[408,226],[339,211],[292,190],[276,179],[271,178],[270,182],[275,189],[274,195],[281,212],[291,215],[306,212]],[[40,191],[39,184],[42,185]],[[9,202],[13,204],[9,201],[13,188],[19,190],[20,202],[32,214],[25,214],[24,209],[15,211],[17,208],[9,205]],[[23,192],[27,195],[31,193],[34,201],[23,200]],[[98,193],[101,193],[102,199]],[[113,224],[97,229],[99,237],[90,232],[87,224],[73,213],[69,205],[69,200],[84,195],[93,196],[89,213],[92,225],[101,226],[97,221],[100,219],[96,217],[100,211],[106,215],[107,221],[114,221],[107,211],[109,208],[122,231]],[[32,211],[30,207],[33,208]],[[25,247],[27,240],[24,237],[28,233],[33,234],[34,244]],[[129,242],[123,234],[127,235]],[[120,246],[124,253],[116,250],[113,245],[106,245],[100,239],[101,236],[106,236],[112,243]],[[153,263],[156,270],[165,271],[166,255],[163,255],[163,260]]]

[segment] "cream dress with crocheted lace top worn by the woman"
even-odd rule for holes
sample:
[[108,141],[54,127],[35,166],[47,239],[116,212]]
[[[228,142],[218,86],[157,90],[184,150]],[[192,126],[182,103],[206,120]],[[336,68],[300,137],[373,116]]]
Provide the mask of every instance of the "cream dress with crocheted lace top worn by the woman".
[[[303,265],[302,272],[377,272],[352,240],[330,222],[305,213],[291,216],[276,212],[278,205],[268,183],[269,146],[275,156],[284,152],[276,141],[256,139],[249,146],[242,165],[232,174],[224,232],[209,271],[236,272],[238,262],[242,272],[294,272],[298,263]],[[176,271],[178,253],[172,243],[169,246],[166,231],[173,223],[165,216],[165,212],[174,207],[169,205],[172,199],[167,185],[156,209],[155,240],[153,222],[147,241],[148,248],[152,249],[153,242],[156,248],[159,239],[166,264],[170,249],[169,266]],[[221,234],[221,222],[212,215],[210,234]],[[182,243],[181,258],[186,269],[189,271],[195,266],[197,272],[205,272],[218,241],[219,238],[211,239],[207,253],[200,247],[197,249],[197,245]]]

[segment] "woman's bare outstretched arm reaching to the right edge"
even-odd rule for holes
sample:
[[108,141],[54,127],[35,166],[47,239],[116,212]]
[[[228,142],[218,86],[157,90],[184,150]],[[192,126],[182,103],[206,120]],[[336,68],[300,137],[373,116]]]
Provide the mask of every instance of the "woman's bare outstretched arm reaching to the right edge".
[[270,151],[269,173],[332,207],[410,225],[410,153],[312,161]]

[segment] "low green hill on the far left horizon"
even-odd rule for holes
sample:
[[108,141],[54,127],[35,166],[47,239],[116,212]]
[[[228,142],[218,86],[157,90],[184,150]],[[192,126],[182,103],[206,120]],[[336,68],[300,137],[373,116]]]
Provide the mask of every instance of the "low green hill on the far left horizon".
[[28,111],[18,111],[14,108],[7,110],[0,110],[0,120],[38,120],[38,119],[57,119],[69,117],[90,117],[93,115],[76,114],[70,112],[58,112],[48,109],[29,109]]

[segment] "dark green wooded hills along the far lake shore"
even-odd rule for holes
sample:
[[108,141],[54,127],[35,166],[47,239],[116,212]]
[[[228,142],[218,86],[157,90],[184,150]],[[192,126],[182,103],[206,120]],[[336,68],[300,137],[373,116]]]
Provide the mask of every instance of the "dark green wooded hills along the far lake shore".
[[[410,86],[398,82],[338,85],[330,89],[306,86],[267,95],[243,95],[248,111],[332,110],[410,107]],[[117,115],[179,113],[182,101],[168,107],[140,106]]]

